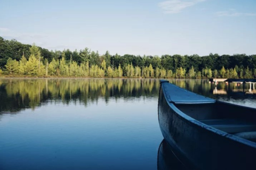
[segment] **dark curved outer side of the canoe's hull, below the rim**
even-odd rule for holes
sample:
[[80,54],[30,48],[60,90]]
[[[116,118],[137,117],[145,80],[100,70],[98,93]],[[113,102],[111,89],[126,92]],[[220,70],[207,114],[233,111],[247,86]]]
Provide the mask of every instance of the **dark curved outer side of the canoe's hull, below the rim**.
[[161,85],[158,120],[175,155],[198,169],[255,168],[255,148],[184,117],[174,103],[166,101],[163,91]]

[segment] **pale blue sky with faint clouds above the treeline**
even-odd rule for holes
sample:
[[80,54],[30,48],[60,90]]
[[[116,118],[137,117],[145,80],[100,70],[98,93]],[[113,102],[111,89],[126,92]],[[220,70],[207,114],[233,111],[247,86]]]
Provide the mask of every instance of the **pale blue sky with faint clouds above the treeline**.
[[0,36],[100,54],[256,54],[255,0],[0,0]]

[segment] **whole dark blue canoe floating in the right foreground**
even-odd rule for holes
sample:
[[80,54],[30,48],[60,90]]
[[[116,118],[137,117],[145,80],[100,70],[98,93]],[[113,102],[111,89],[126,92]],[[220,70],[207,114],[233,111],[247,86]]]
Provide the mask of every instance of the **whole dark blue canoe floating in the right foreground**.
[[161,80],[158,120],[175,155],[197,169],[256,169],[256,109]]

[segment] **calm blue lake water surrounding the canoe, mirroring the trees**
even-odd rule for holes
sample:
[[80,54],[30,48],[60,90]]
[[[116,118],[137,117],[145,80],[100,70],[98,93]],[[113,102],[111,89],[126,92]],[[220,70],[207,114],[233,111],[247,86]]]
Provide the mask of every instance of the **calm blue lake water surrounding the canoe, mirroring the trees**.
[[[249,84],[170,82],[256,108]],[[0,169],[184,169],[162,142],[158,89],[157,79],[0,79]]]

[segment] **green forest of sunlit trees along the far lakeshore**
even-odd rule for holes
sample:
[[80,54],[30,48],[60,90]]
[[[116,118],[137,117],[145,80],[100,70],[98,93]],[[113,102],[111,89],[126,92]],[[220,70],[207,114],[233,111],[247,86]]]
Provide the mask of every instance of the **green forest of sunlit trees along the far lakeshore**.
[[89,48],[49,51],[0,37],[0,76],[256,78],[256,54],[101,55]]

